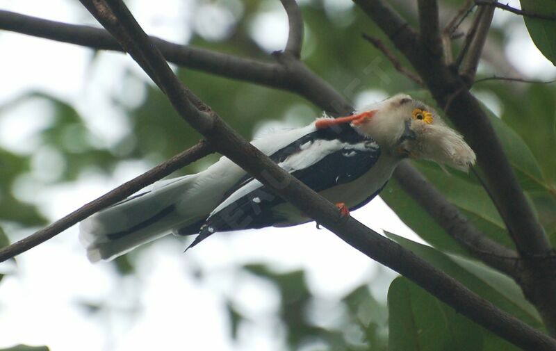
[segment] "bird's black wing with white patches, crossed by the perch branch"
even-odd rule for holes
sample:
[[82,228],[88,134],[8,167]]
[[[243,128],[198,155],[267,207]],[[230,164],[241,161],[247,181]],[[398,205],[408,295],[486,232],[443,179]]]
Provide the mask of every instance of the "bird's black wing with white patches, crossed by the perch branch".
[[[304,152],[308,142],[338,140],[344,143],[343,147],[327,154],[316,163],[299,170],[290,170],[290,172],[317,192],[332,188],[337,184],[354,181],[375,165],[380,155],[380,149],[373,140],[360,136],[349,125],[346,124],[346,126],[347,128],[344,127],[339,133],[330,129],[309,133],[272,154],[270,158],[281,163],[290,156]],[[284,164],[287,164],[287,161]],[[213,213],[206,220],[199,236],[190,247],[197,245],[215,231],[269,227],[286,220],[286,218],[278,218],[272,213],[272,208],[283,203],[284,200],[272,193],[270,189],[261,186],[256,179],[244,177],[238,181],[236,186],[225,195],[224,201],[233,197],[232,195],[238,190],[242,190],[245,194],[234,199],[233,202],[229,200],[230,203],[227,206],[217,213]]]

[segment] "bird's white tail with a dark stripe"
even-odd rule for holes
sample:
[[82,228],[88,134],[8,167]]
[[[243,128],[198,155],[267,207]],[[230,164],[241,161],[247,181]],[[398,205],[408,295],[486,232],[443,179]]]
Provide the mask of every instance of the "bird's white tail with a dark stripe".
[[[90,261],[110,260],[133,248],[170,234],[172,229],[197,222],[203,213],[182,203],[197,174],[154,184],[95,213],[79,225],[79,238]],[[210,209],[209,209],[210,211]],[[203,211],[201,211],[203,212]]]

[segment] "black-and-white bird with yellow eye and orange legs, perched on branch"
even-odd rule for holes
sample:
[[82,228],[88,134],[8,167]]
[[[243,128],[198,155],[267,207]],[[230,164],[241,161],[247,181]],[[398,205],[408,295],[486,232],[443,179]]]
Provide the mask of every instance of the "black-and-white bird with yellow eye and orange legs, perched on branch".
[[[433,108],[404,94],[351,115],[324,115],[307,126],[270,133],[252,145],[345,216],[376,197],[406,158],[464,172],[475,163],[475,153],[461,134]],[[96,262],[170,233],[198,234],[189,249],[219,231],[309,221],[222,156],[202,172],[158,181],[152,189],[95,213],[80,223],[79,237],[88,259]]]

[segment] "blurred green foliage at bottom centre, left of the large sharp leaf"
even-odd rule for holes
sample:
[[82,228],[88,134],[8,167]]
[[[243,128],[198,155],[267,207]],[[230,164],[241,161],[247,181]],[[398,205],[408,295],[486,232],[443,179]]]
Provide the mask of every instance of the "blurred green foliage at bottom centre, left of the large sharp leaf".
[[[279,291],[279,318],[286,326],[286,341],[291,350],[315,343],[327,345],[325,350],[387,350],[386,308],[370,295],[366,286],[348,293],[341,302],[334,302],[343,305],[345,313],[335,325],[323,327],[320,321],[309,318],[316,305],[311,302],[318,297],[309,291],[303,271],[276,273],[259,264],[244,268],[268,279]],[[241,316],[234,309],[229,311],[232,325],[237,328]]]

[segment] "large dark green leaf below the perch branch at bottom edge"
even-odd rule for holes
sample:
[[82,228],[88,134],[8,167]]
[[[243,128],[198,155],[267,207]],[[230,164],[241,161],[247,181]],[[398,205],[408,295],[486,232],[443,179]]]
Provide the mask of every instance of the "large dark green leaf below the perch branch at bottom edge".
[[480,350],[481,327],[404,277],[388,292],[390,351]]

